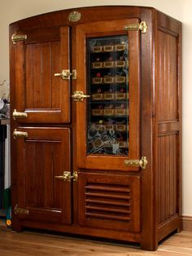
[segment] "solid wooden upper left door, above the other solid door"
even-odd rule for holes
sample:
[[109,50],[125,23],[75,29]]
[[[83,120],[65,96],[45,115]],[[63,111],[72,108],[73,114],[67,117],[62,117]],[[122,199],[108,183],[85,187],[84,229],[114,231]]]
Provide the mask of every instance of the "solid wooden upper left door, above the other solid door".
[[26,37],[12,45],[15,51],[12,80],[16,92],[12,106],[15,120],[67,123],[70,121],[71,80],[69,27],[30,31]]

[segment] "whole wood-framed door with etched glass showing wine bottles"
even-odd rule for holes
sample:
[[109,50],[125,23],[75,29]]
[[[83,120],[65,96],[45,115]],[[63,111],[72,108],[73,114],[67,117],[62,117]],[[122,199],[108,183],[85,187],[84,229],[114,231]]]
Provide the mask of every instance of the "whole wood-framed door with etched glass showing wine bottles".
[[[77,165],[140,170],[124,161],[140,155],[140,32],[125,31],[137,19],[76,27]],[[83,132],[82,132],[83,131]]]

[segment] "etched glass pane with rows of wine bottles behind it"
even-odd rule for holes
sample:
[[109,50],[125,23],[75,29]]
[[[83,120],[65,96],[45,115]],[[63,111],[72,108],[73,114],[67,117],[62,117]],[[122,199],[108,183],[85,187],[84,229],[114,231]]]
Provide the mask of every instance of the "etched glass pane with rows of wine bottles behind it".
[[87,39],[87,154],[129,154],[129,42]]

